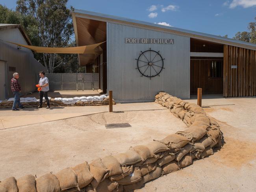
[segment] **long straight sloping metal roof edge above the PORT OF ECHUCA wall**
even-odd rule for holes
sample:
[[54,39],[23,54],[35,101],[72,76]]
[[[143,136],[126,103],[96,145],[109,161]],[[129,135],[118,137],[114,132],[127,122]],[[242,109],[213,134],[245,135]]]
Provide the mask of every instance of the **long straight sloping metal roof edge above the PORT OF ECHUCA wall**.
[[[181,29],[181,28],[164,26],[164,25],[150,23],[150,22],[146,22],[146,21],[140,21],[140,20],[125,18],[125,17],[118,17],[118,16],[113,16],[113,15],[107,15],[107,14],[103,14],[103,13],[96,13],[96,12],[92,12],[92,11],[85,11],[82,9],[74,9],[74,13],[91,15],[91,16],[100,17],[100,18],[107,18],[107,19],[111,19],[111,20],[119,20],[119,21],[123,21],[123,22],[130,22],[130,23],[140,24],[140,25],[145,25],[145,26],[152,26],[155,28],[161,28],[161,29],[176,31],[176,32],[180,32],[180,33],[187,33],[187,34],[191,34],[191,35],[197,35],[197,36],[201,36],[201,37],[217,39],[220,41],[231,42],[234,44],[241,44],[241,45],[245,45],[245,46],[250,46],[254,50],[256,49],[256,44],[254,44],[254,43],[239,41],[236,39],[230,39],[227,37],[221,37],[221,36],[217,36],[217,35],[211,35],[208,33],[202,33],[202,32],[197,32],[197,31],[192,31],[192,30],[185,30],[185,29]],[[237,46],[237,45],[234,45],[234,46]]]

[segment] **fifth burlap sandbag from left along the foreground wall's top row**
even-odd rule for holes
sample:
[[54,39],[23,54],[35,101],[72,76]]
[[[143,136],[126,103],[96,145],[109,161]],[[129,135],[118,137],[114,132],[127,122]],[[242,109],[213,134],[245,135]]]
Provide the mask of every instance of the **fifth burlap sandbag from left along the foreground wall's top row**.
[[72,169],[77,175],[79,188],[89,185],[89,183],[91,183],[93,180],[93,175],[90,172],[90,167],[87,161],[71,167],[70,169]]

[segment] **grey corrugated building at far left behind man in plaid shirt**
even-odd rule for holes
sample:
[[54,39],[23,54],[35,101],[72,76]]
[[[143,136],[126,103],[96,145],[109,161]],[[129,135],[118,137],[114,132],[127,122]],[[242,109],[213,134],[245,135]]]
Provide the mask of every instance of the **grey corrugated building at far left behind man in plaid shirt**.
[[0,24],[0,100],[13,97],[10,81],[13,73],[20,74],[19,83],[22,94],[35,91],[38,72],[46,70],[27,48],[18,49],[16,45],[7,43],[17,42],[32,45],[24,29],[19,24]]

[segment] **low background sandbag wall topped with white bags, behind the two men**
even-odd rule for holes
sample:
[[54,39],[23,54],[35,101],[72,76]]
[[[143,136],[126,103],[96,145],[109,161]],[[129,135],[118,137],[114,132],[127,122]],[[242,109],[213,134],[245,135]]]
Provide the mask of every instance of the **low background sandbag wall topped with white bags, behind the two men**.
[[[50,98],[48,97],[51,106],[89,106],[89,105],[108,105],[109,104],[109,96],[101,95],[101,96],[82,96],[82,97],[74,97],[74,98]],[[14,98],[9,98],[5,101],[0,101],[0,109],[4,108],[12,108]],[[27,97],[20,98],[20,103],[23,107],[33,108],[39,105],[39,100],[35,97]],[[115,105],[115,101],[113,100],[113,105]],[[43,98],[43,107],[46,107],[45,98]]]

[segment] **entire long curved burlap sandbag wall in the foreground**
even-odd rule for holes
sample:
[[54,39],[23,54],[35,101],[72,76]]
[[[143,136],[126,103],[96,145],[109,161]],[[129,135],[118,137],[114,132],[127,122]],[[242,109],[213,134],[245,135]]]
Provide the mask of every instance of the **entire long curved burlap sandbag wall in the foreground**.
[[0,183],[0,192],[132,191],[192,164],[194,159],[212,155],[212,148],[220,146],[219,125],[206,116],[201,107],[163,92],[156,95],[156,103],[169,108],[188,128],[162,140],[130,147],[124,153],[98,158],[90,164],[85,161],[55,174],[38,178],[26,175],[17,180],[9,177]]

